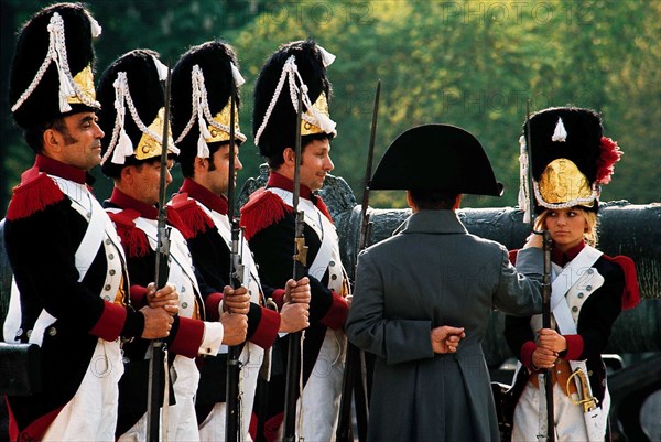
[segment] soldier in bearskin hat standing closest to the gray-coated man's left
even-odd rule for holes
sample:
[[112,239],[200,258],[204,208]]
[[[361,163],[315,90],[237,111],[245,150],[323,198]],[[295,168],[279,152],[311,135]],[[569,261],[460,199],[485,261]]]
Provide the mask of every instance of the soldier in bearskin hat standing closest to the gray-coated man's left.
[[[310,278],[310,328],[303,343],[302,417],[296,434],[311,441],[335,436],[344,371],[349,284],[339,258],[337,233],[324,202],[314,193],[333,170],[330,140],[335,122],[328,114],[330,83],[326,67],[335,56],[313,41],[280,47],[267,61],[254,91],[254,143],[270,166],[269,181],[241,208],[241,225],[267,285],[283,288],[292,277],[295,215],[292,191],[297,93],[302,89],[302,158],[299,211],[305,214],[304,236]],[[277,300],[282,304],[282,300]],[[283,347],[286,339],[281,339]],[[286,355],[283,352],[282,355]],[[283,362],[285,365],[286,362]],[[283,418],[284,373],[273,375],[269,389],[267,438],[277,439]]]

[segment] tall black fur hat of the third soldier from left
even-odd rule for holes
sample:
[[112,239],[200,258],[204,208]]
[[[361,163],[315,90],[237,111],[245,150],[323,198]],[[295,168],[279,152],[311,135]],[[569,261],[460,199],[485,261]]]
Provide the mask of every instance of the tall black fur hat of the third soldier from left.
[[186,52],[172,71],[172,129],[182,158],[208,158],[208,144],[229,141],[235,91],[235,139],[246,141],[239,128],[238,88],[246,83],[234,50],[206,42]]

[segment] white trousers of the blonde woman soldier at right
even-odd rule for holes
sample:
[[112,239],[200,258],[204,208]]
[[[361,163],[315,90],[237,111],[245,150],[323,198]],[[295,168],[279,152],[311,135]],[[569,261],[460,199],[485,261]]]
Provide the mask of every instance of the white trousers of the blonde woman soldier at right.
[[[588,440],[583,410],[570,401],[557,382],[553,386],[553,411],[557,442]],[[546,434],[546,400],[529,381],[514,408],[512,441],[537,441],[538,434]]]

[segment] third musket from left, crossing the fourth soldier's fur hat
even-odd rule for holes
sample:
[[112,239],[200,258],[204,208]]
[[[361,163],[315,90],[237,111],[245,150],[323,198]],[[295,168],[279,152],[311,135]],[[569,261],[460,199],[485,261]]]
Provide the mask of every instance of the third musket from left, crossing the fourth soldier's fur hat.
[[[293,279],[299,281],[306,273],[307,246],[305,246],[305,214],[299,211],[301,195],[301,120],[303,114],[303,89],[299,88],[299,107],[296,109],[296,140],[294,150],[294,192],[293,209],[295,215]],[[301,378],[301,337],[303,332],[289,334],[286,355],[286,380],[284,390],[284,428],[283,442],[294,442],[296,432],[296,399]]]

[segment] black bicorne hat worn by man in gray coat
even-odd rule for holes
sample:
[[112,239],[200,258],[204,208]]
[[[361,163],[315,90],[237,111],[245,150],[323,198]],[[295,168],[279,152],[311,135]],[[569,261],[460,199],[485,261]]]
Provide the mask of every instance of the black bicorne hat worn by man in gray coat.
[[401,133],[377,166],[371,190],[435,191],[500,196],[489,159],[477,139],[449,125],[423,125]]

